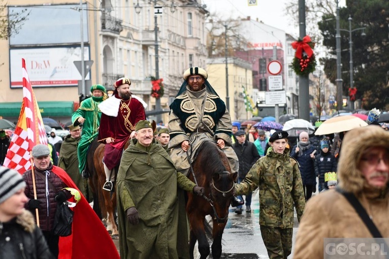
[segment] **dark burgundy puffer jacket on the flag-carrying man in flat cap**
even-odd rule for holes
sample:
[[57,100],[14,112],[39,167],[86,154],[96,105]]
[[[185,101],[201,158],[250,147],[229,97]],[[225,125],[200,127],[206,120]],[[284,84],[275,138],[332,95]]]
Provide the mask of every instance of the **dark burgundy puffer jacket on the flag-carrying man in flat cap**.
[[[55,166],[54,166],[55,167]],[[39,227],[42,231],[51,231],[53,227],[54,222],[54,215],[55,210],[57,207],[57,202],[54,201],[54,197],[56,193],[61,190],[62,188],[67,187],[65,183],[59,178],[56,174],[54,174],[51,170],[53,168],[53,165],[50,163],[49,168],[47,171],[41,171],[38,170],[36,167],[34,167],[35,170],[35,184],[37,186],[37,200],[41,202],[39,205]],[[56,190],[53,190],[50,185],[46,186],[45,180],[43,180],[41,177],[39,177],[37,174],[47,174],[47,179],[50,181]],[[23,179],[26,182],[27,186],[25,187],[24,193],[29,199],[34,199],[34,189],[33,189],[33,178],[31,170],[26,171],[23,174]],[[49,189],[49,195],[46,200],[46,187]],[[48,211],[48,216],[47,216]]]

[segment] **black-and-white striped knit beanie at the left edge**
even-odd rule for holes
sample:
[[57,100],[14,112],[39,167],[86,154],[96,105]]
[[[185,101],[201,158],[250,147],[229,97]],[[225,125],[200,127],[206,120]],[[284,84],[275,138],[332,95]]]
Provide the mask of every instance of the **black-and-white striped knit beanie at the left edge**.
[[23,178],[17,171],[0,167],[0,204],[25,186]]

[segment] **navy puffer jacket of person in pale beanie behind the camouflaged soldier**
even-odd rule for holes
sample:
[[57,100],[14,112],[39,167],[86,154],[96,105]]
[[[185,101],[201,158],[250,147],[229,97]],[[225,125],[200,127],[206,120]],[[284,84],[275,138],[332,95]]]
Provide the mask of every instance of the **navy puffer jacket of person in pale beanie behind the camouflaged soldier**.
[[313,163],[314,159],[312,159],[310,156],[311,153],[316,150],[316,147],[310,145],[307,150],[303,151],[301,156],[298,155],[299,152],[296,153],[296,147],[297,145],[293,147],[290,156],[296,158],[298,164],[300,165],[300,173],[303,180],[303,185],[316,185],[316,176]]

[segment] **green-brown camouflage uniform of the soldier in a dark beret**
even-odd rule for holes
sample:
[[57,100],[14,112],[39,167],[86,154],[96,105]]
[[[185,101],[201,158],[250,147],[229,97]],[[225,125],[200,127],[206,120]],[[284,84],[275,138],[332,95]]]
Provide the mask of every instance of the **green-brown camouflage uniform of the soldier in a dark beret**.
[[293,203],[297,219],[303,214],[305,198],[297,161],[289,149],[278,154],[269,148],[258,159],[246,178],[235,185],[235,195],[244,195],[259,187],[259,224],[270,258],[287,258],[292,249]]

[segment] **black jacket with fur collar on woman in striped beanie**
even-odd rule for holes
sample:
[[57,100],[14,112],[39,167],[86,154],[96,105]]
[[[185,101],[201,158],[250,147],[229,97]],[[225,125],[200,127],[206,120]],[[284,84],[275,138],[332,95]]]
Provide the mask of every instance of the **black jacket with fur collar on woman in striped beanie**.
[[0,258],[54,258],[29,211],[9,222],[0,221]]

